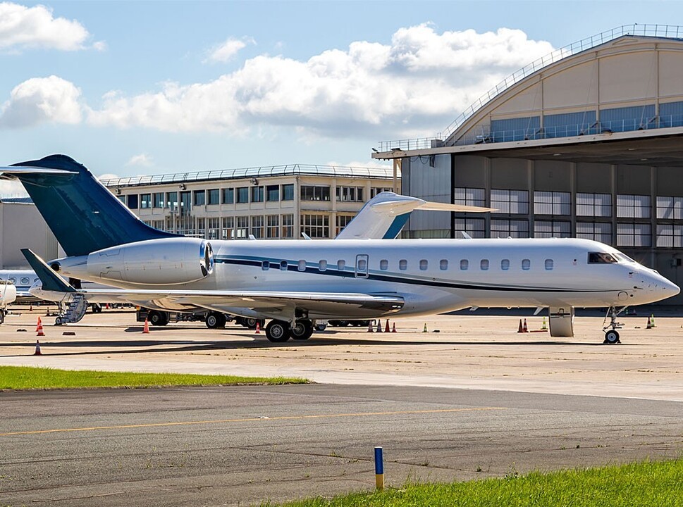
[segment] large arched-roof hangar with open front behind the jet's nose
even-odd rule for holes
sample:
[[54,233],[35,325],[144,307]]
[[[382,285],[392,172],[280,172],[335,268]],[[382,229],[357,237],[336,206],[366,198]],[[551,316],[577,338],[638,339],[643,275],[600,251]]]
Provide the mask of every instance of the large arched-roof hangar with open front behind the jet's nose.
[[629,25],[570,44],[445,134],[382,142],[372,156],[402,168],[407,195],[498,210],[414,213],[405,237],[595,239],[680,284],[683,27]]

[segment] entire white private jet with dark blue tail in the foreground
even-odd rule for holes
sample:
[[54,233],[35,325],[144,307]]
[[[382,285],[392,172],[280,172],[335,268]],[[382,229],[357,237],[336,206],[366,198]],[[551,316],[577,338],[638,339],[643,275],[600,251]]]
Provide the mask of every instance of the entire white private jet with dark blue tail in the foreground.
[[580,306],[610,308],[605,342],[616,343],[620,311],[680,290],[617,249],[585,239],[178,237],[142,223],[67,156],[0,170],[23,183],[68,253],[48,269],[23,251],[45,289],[77,293],[63,274],[118,287],[81,291],[85,298],[106,294],[169,311],[271,319],[271,342],[308,339],[314,319],[512,306],[549,308],[550,334],[569,337]]

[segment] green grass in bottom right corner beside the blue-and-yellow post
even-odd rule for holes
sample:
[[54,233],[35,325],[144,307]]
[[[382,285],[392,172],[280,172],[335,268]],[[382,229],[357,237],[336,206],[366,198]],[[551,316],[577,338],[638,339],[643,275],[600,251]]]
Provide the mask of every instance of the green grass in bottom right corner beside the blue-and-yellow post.
[[[374,476],[368,476],[374,482]],[[683,506],[683,459],[588,470],[510,473],[500,479],[407,484],[384,492],[285,503],[287,507]]]

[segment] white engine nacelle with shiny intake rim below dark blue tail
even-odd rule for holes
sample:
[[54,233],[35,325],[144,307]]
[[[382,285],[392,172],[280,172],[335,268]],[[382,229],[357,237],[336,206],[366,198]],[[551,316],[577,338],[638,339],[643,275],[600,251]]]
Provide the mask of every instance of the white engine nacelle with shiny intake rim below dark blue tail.
[[104,280],[164,285],[195,282],[214,270],[204,239],[174,237],[111,246],[87,256],[87,272]]

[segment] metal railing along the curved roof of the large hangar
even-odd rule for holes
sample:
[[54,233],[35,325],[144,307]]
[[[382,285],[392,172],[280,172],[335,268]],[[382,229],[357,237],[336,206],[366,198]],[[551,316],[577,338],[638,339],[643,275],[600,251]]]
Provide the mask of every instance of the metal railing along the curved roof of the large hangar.
[[[465,123],[468,118],[470,118],[476,111],[488,104],[499,94],[505,92],[506,89],[510,88],[513,84],[524,79],[536,71],[540,70],[551,63],[562,60],[562,58],[567,58],[567,56],[572,56],[573,54],[586,51],[593,47],[605,44],[624,35],[641,36],[641,37],[662,37],[666,39],[681,39],[683,38],[683,26],[679,25],[639,25],[634,23],[633,25],[622,25],[620,27],[615,27],[611,30],[605,30],[605,32],[598,33],[591,37],[586,37],[577,42],[572,42],[567,46],[563,46],[560,49],[555,49],[550,54],[542,56],[538,60],[535,60],[529,65],[517,70],[515,73],[505,77],[505,79],[495,87],[491,88],[474,101],[474,104],[465,108],[460,115],[453,120],[453,122],[448,125],[448,127],[439,132],[435,137],[424,137],[422,139],[400,139],[396,141],[381,141],[379,143],[379,151],[390,151],[394,148],[399,148],[402,150],[407,149],[425,149],[431,148],[433,141],[443,141],[448,139],[455,130],[457,130],[460,125]],[[410,146],[410,147],[409,147]]]

